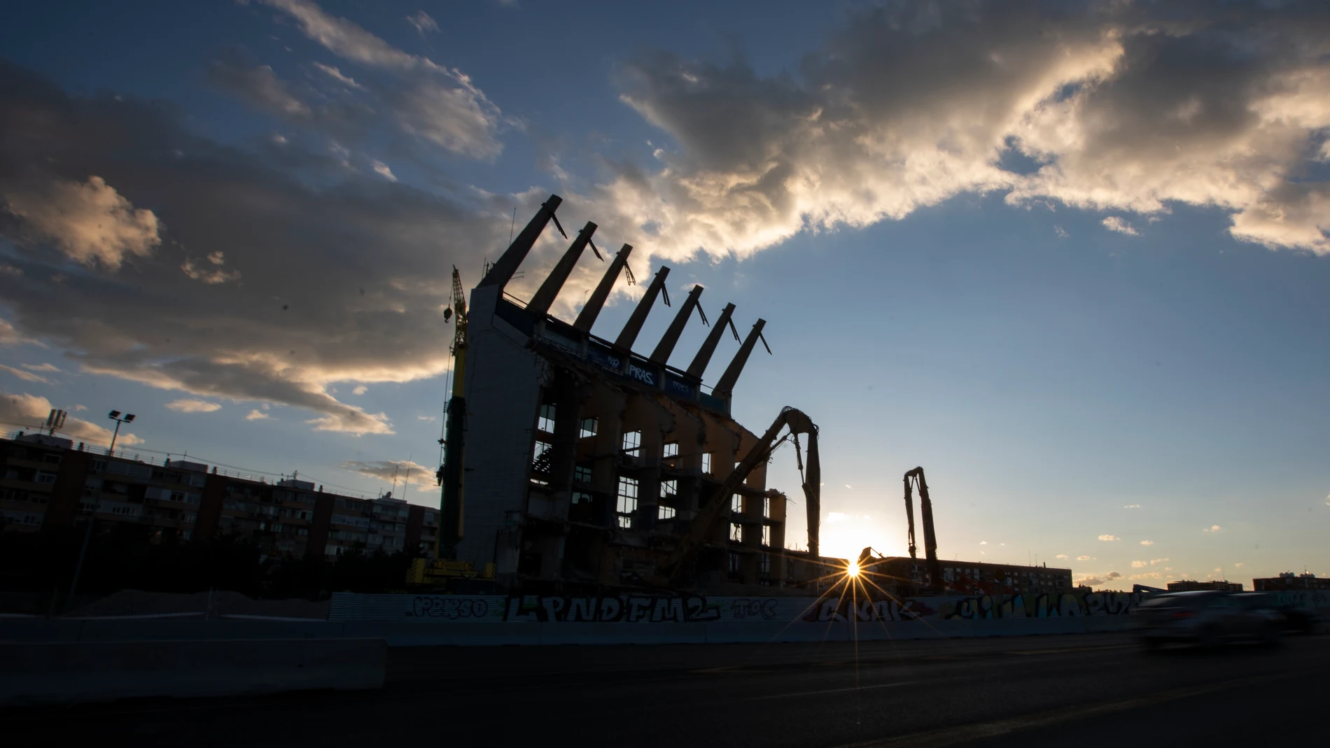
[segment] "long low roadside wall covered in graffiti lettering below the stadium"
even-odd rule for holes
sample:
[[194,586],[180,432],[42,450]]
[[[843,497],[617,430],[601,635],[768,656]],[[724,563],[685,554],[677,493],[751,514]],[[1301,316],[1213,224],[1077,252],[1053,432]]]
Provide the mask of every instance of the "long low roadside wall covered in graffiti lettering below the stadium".
[[[332,595],[329,620],[511,623],[853,623],[1128,615],[1132,593],[946,598],[705,598],[700,595]],[[1330,602],[1330,601],[1327,601]]]

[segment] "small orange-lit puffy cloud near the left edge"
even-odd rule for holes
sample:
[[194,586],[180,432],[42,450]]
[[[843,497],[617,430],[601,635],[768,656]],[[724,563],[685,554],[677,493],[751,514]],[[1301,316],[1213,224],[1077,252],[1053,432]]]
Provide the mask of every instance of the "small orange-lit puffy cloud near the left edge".
[[157,215],[134,206],[101,177],[85,181],[23,179],[0,185],[4,210],[21,219],[15,239],[49,242],[85,266],[118,270],[161,243]]

